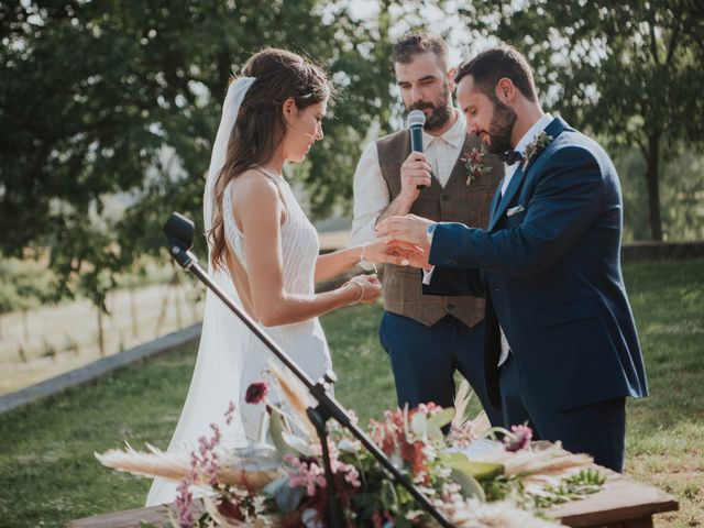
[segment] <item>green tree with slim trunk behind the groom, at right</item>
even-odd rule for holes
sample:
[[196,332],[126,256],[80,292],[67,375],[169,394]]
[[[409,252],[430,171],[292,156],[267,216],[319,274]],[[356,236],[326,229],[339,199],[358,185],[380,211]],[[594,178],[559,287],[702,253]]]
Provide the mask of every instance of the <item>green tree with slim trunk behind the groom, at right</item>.
[[460,15],[524,52],[546,102],[645,161],[649,227],[662,240],[663,151],[704,143],[700,0],[479,0]]

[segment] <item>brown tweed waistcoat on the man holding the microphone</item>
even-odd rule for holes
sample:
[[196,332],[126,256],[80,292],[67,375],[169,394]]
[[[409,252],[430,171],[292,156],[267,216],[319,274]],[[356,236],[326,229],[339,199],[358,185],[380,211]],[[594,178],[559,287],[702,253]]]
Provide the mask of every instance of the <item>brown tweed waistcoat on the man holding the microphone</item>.
[[[462,153],[479,148],[480,140],[465,135]],[[407,130],[382,138],[376,142],[382,175],[391,199],[400,194],[400,166],[410,154],[410,134]],[[460,156],[460,158],[463,155]],[[491,170],[466,185],[468,170],[458,158],[444,187],[433,177],[432,184],[422,189],[410,212],[433,221],[461,222],[486,229],[490,205],[498,183],[504,177],[504,164],[487,154],[485,164]],[[431,326],[451,315],[469,327],[484,318],[484,299],[470,296],[444,297],[422,295],[419,270],[386,264],[384,268],[384,308],[393,314],[409,317]]]

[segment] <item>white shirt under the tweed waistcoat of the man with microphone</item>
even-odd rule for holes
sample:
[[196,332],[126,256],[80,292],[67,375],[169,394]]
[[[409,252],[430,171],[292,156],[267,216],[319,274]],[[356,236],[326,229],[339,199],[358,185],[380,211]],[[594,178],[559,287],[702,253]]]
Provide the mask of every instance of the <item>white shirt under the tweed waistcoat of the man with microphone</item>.
[[[432,176],[444,188],[452,168],[462,154],[466,134],[464,114],[454,110],[457,120],[442,135],[432,135],[424,130],[422,151]],[[378,164],[376,142],[372,142],[362,153],[354,172],[354,219],[352,220],[352,244],[363,244],[376,239],[376,220],[391,204],[388,187]]]

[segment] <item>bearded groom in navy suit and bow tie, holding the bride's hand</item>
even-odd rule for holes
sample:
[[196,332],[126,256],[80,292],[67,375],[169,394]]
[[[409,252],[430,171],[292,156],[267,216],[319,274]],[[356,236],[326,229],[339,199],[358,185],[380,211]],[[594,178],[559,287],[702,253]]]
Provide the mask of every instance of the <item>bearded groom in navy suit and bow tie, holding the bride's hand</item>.
[[[487,50],[455,77],[468,131],[510,168],[488,229],[413,215],[378,232],[417,244],[427,293],[483,293],[485,376],[506,425],[623,470],[625,397],[648,394],[620,272],[616,169],[590,138],[542,112],[515,48]],[[480,272],[481,270],[481,272]]]

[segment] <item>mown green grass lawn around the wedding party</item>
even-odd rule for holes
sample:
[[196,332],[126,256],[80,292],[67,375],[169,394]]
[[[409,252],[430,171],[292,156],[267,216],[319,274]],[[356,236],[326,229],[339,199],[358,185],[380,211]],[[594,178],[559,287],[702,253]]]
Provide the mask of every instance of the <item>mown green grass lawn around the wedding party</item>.
[[[652,394],[628,403],[626,472],[680,501],[656,526],[704,527],[704,260],[632,263],[624,273]],[[359,306],[323,319],[338,397],[363,422],[395,404],[380,317],[380,306]],[[102,468],[92,453],[122,440],[165,448],[194,360],[183,349],[0,415],[0,527],[61,527],[142,506],[150,481]]]

